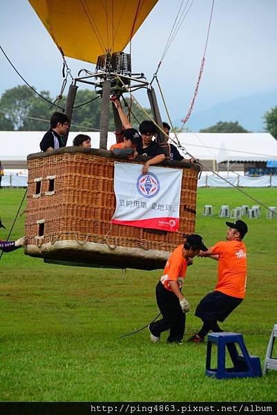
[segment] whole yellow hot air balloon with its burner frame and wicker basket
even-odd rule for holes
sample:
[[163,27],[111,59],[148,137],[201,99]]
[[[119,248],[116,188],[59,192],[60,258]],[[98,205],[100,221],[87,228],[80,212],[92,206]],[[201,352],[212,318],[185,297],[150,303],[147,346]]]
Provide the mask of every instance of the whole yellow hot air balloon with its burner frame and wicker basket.
[[[164,268],[169,252],[182,243],[184,234],[194,232],[200,167],[173,160],[162,163],[166,172],[182,173],[180,219],[174,232],[170,226],[175,221],[165,213],[160,222],[169,223],[169,230],[120,221],[112,223],[120,203],[114,190],[115,162],[141,164],[145,158],[138,156],[130,162],[115,158],[106,150],[111,95],[120,97],[143,87],[149,95],[153,120],[160,127],[160,146],[168,154],[155,91],[143,74],[131,72],[131,56],[122,52],[157,1],[30,0],[30,3],[64,55],[96,64],[94,73],[79,73],[70,85],[66,114],[72,117],[79,82],[95,86],[102,97],[102,111],[100,149],[64,147],[28,156],[26,254],[57,264]],[[114,117],[115,131],[120,131],[122,124],[117,111]],[[147,192],[160,190],[163,185],[157,185],[155,175],[140,176],[140,180],[135,192],[146,198],[151,197]],[[151,206],[151,201],[147,201]]]

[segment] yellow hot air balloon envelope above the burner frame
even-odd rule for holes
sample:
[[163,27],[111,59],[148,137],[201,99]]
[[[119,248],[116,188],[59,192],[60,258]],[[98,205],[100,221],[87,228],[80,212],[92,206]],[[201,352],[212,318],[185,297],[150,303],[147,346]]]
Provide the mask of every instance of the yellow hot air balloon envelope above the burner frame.
[[124,50],[158,0],[29,0],[64,55],[97,62]]

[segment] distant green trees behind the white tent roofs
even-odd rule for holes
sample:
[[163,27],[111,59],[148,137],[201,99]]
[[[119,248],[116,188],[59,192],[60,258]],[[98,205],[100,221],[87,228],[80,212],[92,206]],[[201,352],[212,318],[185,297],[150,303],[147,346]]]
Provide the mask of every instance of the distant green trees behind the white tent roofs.
[[[44,98],[50,102],[55,99],[50,96],[49,91],[41,91]],[[99,118],[101,111],[101,99],[90,89],[78,89],[71,131],[93,131],[99,130]],[[91,101],[86,105],[79,105]],[[128,105],[130,105],[130,100]],[[57,102],[56,102],[57,104]],[[59,107],[65,108],[66,96],[59,101]],[[56,107],[51,106],[48,102],[40,98],[32,89],[26,85],[15,86],[7,89],[0,98],[0,131],[44,131],[48,129],[50,117]],[[61,109],[57,109],[61,111]],[[146,109],[151,113],[150,109]],[[128,112],[128,109],[126,109]],[[132,115],[133,113],[133,115]],[[138,128],[138,124],[145,119],[145,114],[140,107],[133,102],[131,105],[131,122],[133,127]],[[263,116],[265,122],[265,131],[271,133],[277,139],[277,106],[271,108]],[[45,121],[46,120],[46,121]],[[114,130],[113,111],[110,111],[109,125],[110,131]],[[219,121],[215,125],[206,129],[200,129],[200,133],[248,133],[238,121],[226,122]]]

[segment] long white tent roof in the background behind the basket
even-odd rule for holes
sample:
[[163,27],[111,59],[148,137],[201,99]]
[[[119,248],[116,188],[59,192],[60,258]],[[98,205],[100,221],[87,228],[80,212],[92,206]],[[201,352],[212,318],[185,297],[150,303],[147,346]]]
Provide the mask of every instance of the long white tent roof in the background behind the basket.
[[[28,154],[40,151],[39,142],[44,133],[45,131],[0,131],[0,160],[3,168],[26,167]],[[98,132],[84,134],[91,137],[92,147],[99,148]],[[68,145],[72,145],[76,135],[77,132],[69,133]],[[174,139],[172,133],[171,138]],[[277,160],[277,140],[269,133],[180,133],[178,140],[190,154],[203,161],[216,160],[216,163],[222,163]],[[114,142],[114,133],[108,133],[108,149]]]

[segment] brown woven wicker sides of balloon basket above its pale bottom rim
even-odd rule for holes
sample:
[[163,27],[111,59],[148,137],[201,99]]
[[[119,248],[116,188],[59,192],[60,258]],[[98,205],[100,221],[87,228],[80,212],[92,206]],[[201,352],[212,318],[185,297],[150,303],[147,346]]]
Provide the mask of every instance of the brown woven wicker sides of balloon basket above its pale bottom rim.
[[[111,226],[116,203],[113,190],[115,160],[130,163],[113,156],[79,151],[29,159],[27,243],[36,243],[39,235],[37,221],[44,221],[43,243],[77,240],[166,252],[182,243],[184,234],[194,232],[198,172],[185,167],[182,168],[179,232],[157,234],[143,228]],[[54,192],[49,192],[49,176],[55,176]],[[39,178],[41,187],[36,194]]]

